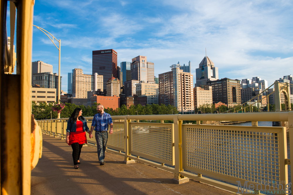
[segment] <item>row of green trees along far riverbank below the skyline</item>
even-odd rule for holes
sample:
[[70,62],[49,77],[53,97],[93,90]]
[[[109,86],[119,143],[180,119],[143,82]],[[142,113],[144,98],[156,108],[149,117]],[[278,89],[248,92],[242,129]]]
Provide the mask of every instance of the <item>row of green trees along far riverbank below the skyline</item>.
[[[56,104],[56,103],[54,103]],[[39,105],[32,102],[32,114],[34,115],[36,120],[43,120],[43,119],[54,119],[57,118],[57,112],[52,111],[53,103],[45,103],[40,102]],[[88,116],[94,116],[97,112],[97,106],[100,103],[94,103],[91,107],[90,106],[78,106],[71,103],[65,103],[64,109],[60,113],[61,118],[69,118],[74,111],[75,108],[81,108],[82,109],[82,115],[84,117]],[[241,107],[236,108],[239,105],[235,105],[234,107],[228,108],[227,106],[218,106],[217,109],[215,108],[214,104],[202,104],[199,106],[199,108],[195,109],[195,113],[198,113],[198,111],[201,111],[201,113],[214,113],[217,111],[218,113],[223,113],[228,110],[231,110],[235,108],[235,112],[241,111]],[[265,109],[267,107],[264,107]],[[270,111],[275,111],[275,105],[269,104]],[[285,110],[285,104],[281,104],[282,110]],[[291,108],[293,108],[293,104],[291,103]],[[258,108],[256,106],[247,107],[245,109],[245,112],[257,112]],[[264,110],[266,111],[266,110]],[[164,105],[164,104],[147,104],[146,106],[142,106],[140,104],[137,104],[136,106],[132,105],[128,109],[123,104],[120,108],[105,108],[105,112],[109,113],[112,116],[116,115],[161,115],[161,114],[178,114],[178,111],[175,106],[172,105]],[[234,110],[233,110],[234,112]],[[244,109],[243,109],[244,112]],[[143,121],[141,121],[143,122]],[[171,122],[171,121],[170,121]]]

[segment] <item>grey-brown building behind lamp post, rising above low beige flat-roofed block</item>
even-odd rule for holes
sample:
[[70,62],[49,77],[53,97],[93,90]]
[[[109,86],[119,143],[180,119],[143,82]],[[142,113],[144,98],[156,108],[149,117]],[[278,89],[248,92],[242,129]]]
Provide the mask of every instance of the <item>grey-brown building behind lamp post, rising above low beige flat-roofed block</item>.
[[[58,74],[57,73],[34,73],[33,84],[38,84],[43,88],[58,89]],[[60,76],[60,80],[62,77]],[[60,86],[61,91],[61,86]]]

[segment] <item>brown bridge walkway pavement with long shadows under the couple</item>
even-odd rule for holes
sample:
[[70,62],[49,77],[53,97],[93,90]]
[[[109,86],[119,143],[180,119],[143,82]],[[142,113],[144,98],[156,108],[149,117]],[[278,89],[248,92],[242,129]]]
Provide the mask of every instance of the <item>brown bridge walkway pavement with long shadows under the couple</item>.
[[233,194],[193,180],[174,184],[172,173],[138,162],[126,165],[122,156],[109,152],[100,166],[96,148],[90,146],[84,146],[80,156],[79,169],[74,169],[71,146],[43,134],[43,154],[32,170],[31,194]]

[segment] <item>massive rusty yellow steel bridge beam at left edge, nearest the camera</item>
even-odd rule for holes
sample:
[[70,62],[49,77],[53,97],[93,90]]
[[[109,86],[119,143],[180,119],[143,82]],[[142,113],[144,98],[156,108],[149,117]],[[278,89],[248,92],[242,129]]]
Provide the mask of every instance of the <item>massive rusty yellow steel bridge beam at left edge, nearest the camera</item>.
[[[14,4],[13,1],[10,4]],[[33,6],[33,0],[17,1],[17,74],[4,75],[3,48],[7,39],[7,1],[1,1],[1,194],[30,194],[30,86]],[[10,17],[14,18],[15,15],[11,14]],[[11,48],[13,50],[13,45]],[[16,94],[17,91],[20,94]]]

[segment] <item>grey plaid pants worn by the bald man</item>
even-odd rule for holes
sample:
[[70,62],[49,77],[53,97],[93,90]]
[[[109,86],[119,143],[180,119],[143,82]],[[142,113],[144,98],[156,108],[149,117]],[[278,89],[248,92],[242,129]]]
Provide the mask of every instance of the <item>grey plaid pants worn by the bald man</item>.
[[96,131],[95,133],[96,141],[97,141],[97,149],[98,149],[98,158],[100,163],[104,162],[106,144],[108,140],[108,131]]

